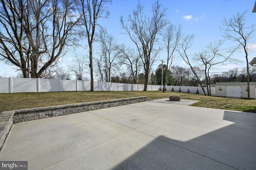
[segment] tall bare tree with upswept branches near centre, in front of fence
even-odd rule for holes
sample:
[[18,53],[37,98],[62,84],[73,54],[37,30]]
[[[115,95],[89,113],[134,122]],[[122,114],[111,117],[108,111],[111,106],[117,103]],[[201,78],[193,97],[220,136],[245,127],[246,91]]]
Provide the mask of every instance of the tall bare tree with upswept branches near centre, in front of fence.
[[156,49],[158,34],[168,24],[166,19],[166,8],[161,9],[158,1],[152,4],[152,17],[148,17],[143,11],[144,6],[138,2],[137,8],[129,15],[128,22],[130,26],[124,24],[123,17],[120,18],[124,34],[128,34],[135,43],[136,48],[144,65],[144,91],[147,91],[150,67],[156,60],[160,48]]

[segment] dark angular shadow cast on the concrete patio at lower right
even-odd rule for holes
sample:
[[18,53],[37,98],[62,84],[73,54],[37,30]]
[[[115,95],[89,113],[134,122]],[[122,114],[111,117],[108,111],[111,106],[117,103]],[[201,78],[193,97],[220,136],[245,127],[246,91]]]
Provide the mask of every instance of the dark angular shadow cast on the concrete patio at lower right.
[[113,169],[255,169],[256,114],[224,111],[223,120],[234,124],[186,142],[155,136]]

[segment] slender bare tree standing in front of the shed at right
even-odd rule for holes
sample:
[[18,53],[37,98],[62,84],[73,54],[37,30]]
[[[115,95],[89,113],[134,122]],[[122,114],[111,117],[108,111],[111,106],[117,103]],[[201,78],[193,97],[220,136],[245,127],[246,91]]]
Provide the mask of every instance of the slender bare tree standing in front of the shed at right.
[[[248,53],[250,49],[248,48],[248,43],[253,38],[253,32],[255,31],[255,24],[251,26],[246,25],[246,12],[240,13],[237,12],[233,14],[231,18],[224,18],[222,24],[225,34],[224,38],[227,40],[232,40],[238,42],[238,47],[242,46],[246,58],[246,67],[247,75],[249,75],[249,62],[248,62]],[[248,86],[248,99],[250,99],[250,76],[247,76],[247,86]]]

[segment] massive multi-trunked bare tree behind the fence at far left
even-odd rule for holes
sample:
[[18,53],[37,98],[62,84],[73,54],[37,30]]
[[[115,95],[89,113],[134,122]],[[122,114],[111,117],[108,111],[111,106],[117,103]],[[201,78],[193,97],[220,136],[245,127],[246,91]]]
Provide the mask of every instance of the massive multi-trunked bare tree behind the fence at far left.
[[74,44],[74,1],[0,0],[0,57],[39,78]]

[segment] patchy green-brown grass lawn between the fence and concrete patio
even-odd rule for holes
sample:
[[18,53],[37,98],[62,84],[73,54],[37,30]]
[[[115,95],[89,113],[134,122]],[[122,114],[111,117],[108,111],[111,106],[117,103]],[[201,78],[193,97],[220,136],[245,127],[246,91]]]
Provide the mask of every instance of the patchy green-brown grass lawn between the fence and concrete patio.
[[168,98],[169,95],[179,95],[181,99],[199,100],[193,106],[220,109],[221,105],[227,105],[226,109],[233,111],[246,111],[256,113],[255,99],[230,99],[225,97],[210,97],[192,93],[162,91],[63,91],[40,93],[2,93],[0,94],[0,113],[2,111],[28,109],[64,105],[72,103],[84,103],[90,101],[103,101],[109,99],[121,99],[128,97],[147,96],[148,100]]

